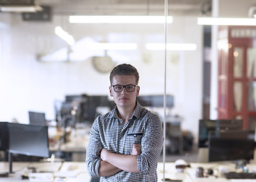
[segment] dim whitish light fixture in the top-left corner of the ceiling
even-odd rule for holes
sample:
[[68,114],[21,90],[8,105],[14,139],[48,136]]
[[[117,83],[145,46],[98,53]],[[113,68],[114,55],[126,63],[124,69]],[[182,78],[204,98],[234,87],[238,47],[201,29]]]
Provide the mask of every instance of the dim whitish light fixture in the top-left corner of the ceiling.
[[39,5],[0,5],[3,12],[36,12],[43,11]]

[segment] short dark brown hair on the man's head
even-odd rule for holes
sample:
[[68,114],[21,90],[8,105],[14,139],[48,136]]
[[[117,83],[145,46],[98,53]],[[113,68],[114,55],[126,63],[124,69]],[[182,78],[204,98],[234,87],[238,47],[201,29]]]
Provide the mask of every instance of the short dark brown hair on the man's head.
[[110,83],[115,75],[134,75],[136,80],[136,85],[139,83],[139,73],[137,69],[131,64],[119,64],[114,67],[109,75]]

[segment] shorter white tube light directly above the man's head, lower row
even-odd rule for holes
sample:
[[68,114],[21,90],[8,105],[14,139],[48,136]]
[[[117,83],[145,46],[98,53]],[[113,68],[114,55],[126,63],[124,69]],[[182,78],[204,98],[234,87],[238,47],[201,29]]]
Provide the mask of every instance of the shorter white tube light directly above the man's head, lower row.
[[137,49],[136,43],[90,43],[87,44],[87,49],[93,50],[135,50]]

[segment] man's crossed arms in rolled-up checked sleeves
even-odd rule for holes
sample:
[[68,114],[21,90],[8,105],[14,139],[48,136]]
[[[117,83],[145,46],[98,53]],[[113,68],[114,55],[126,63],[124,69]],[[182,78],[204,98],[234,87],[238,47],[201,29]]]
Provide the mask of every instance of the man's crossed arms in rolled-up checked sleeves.
[[[108,144],[103,145],[103,143],[112,142],[115,139],[115,133],[103,133],[105,128],[101,124],[98,118],[90,131],[86,152],[87,170],[90,176],[108,177],[119,173],[119,171],[145,175],[156,173],[157,158],[163,147],[163,129],[157,116],[151,115],[150,118],[147,118],[147,127],[143,131],[144,137],[141,138],[141,144],[138,144],[139,147],[133,146],[131,153],[125,155],[119,153],[118,150],[114,152]],[[108,137],[107,141],[106,137]],[[126,135],[126,137],[128,136]]]

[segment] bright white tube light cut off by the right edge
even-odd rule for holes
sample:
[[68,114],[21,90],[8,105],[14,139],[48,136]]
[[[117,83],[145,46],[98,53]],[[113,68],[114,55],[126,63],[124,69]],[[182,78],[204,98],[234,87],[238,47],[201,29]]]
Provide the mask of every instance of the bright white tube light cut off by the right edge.
[[256,20],[254,18],[198,17],[198,24],[256,26]]

